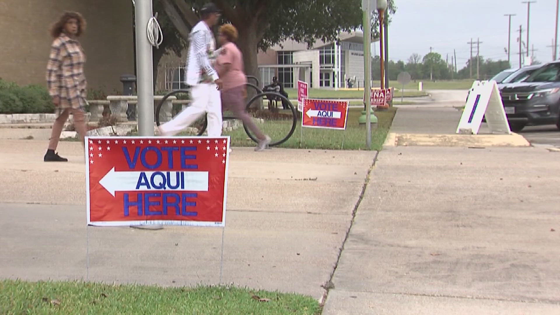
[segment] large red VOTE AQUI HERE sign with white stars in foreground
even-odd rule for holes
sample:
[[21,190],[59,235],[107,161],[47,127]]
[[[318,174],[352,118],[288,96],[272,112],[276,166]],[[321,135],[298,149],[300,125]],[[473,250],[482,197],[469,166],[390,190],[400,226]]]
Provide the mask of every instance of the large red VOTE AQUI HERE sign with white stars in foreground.
[[87,224],[224,226],[230,137],[86,137]]

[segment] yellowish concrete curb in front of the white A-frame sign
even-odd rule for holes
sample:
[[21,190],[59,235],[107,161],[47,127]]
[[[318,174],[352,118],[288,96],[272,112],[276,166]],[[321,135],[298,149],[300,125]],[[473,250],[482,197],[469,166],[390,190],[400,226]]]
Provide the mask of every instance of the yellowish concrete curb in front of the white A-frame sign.
[[464,147],[529,147],[521,135],[425,135],[395,134],[396,146],[464,146]]

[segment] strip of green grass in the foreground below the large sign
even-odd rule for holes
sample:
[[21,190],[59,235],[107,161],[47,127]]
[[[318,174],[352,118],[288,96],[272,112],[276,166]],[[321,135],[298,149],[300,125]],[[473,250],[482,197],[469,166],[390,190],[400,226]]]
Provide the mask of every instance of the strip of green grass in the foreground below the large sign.
[[[298,294],[229,286],[161,288],[91,282],[0,281],[1,314],[320,314]],[[259,302],[259,298],[269,299]]]

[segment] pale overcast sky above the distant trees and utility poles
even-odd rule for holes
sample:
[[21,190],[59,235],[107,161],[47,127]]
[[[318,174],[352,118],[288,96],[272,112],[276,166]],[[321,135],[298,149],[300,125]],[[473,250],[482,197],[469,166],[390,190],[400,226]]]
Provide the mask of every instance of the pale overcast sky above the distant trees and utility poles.
[[[407,61],[410,54],[425,55],[432,47],[444,60],[449,54],[451,62],[455,49],[460,70],[469,59],[467,43],[471,38],[474,41],[479,38],[480,55],[485,59],[507,60],[504,48],[507,48],[508,17],[504,15],[513,13],[517,16],[511,18],[511,63],[514,67],[519,65],[519,25],[524,30],[524,42],[527,27],[527,4],[521,0],[395,0],[395,3],[398,8],[389,26],[390,59]],[[535,58],[540,62],[552,60],[552,48],[547,46],[552,45],[555,24],[555,0],[531,3],[529,48],[534,45]],[[476,55],[476,45],[473,48]],[[379,45],[376,49],[379,50]]]

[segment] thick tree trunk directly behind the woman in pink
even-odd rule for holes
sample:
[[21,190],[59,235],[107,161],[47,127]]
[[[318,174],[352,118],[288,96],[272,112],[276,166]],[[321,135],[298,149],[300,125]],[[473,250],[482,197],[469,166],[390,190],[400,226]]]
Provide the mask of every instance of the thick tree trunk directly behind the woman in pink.
[[[243,63],[245,66],[245,75],[260,77],[259,67],[256,55],[258,53],[257,46],[259,44],[260,38],[258,36],[257,27],[254,26],[254,22],[248,23],[246,25],[236,25],[239,30],[239,39],[237,39],[237,47],[241,50],[243,54]],[[260,78],[259,78],[260,81]],[[262,82],[261,82],[262,83]],[[259,89],[262,89],[259,86]],[[256,92],[253,89],[247,90],[247,100],[253,98]],[[262,109],[262,101],[255,101],[253,105],[256,105],[259,109]]]

